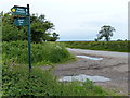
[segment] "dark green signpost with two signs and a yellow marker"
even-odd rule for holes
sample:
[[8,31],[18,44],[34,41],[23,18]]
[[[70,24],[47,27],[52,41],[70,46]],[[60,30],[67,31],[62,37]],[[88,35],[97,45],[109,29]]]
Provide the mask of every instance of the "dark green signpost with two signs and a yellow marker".
[[14,24],[16,26],[28,26],[28,63],[29,72],[31,70],[31,53],[30,53],[30,14],[29,14],[29,4],[27,7],[14,5],[11,11],[14,15],[22,15],[24,17],[16,17]]

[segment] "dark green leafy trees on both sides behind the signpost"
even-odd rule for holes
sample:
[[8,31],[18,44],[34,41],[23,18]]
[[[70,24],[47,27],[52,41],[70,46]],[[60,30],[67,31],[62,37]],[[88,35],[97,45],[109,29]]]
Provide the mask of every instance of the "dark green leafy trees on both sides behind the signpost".
[[[11,12],[5,14],[1,12],[0,16],[2,16],[3,41],[27,40],[27,27],[26,26],[17,27],[13,24],[14,19],[20,16],[14,16]],[[54,24],[46,20],[46,15],[41,14],[40,16],[38,16],[32,14],[30,16],[30,23],[32,41],[35,42],[50,41],[51,38],[53,38],[51,32],[54,30]],[[54,39],[56,40],[58,38],[54,37]]]

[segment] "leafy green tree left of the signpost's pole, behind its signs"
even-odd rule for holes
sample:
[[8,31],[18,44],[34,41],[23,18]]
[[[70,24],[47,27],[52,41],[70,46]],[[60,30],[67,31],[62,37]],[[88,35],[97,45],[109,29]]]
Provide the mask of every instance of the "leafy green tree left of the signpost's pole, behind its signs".
[[[2,13],[2,12],[1,12]],[[2,15],[2,40],[23,40],[26,38],[25,29],[13,25],[14,16],[9,12]]]

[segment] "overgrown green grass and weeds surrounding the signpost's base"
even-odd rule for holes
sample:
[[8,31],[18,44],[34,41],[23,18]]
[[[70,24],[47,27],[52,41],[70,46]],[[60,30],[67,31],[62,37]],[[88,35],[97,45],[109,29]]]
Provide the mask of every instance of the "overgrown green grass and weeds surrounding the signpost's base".
[[93,82],[58,83],[50,71],[39,65],[63,63],[74,58],[62,44],[32,44],[32,70],[27,66],[27,41],[3,42],[2,93],[3,96],[107,96],[115,93],[104,90]]

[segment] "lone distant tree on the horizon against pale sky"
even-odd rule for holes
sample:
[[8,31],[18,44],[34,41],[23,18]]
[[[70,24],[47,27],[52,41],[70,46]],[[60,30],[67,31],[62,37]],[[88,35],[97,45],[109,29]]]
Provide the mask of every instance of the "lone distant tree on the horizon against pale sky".
[[101,27],[101,30],[98,34],[98,38],[95,38],[95,40],[101,40],[103,37],[105,37],[106,41],[110,40],[110,37],[113,36],[113,32],[115,32],[116,29],[112,26],[107,26],[104,25],[103,27]]

